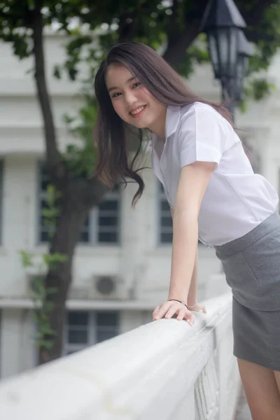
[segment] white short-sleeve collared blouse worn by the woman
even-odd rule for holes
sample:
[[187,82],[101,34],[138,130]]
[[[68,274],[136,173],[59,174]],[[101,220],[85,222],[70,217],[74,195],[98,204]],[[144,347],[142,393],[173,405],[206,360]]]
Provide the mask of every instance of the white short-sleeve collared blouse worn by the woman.
[[275,211],[276,190],[253,173],[235,130],[211,106],[168,106],[165,139],[153,135],[152,162],[171,207],[182,167],[197,161],[216,163],[200,207],[202,243],[223,245],[242,237]]

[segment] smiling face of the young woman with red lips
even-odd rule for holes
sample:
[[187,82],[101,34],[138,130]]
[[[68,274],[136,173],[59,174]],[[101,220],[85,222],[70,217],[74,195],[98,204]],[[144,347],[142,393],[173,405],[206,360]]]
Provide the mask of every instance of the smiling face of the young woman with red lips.
[[113,108],[125,123],[149,128],[164,139],[167,107],[158,102],[130,70],[110,64],[106,72],[106,87]]

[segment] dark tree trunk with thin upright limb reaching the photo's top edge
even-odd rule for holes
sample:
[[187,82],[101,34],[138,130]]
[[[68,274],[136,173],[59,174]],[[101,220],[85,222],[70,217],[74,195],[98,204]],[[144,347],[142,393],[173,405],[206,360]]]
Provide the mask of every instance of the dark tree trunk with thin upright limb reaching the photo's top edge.
[[62,354],[65,302],[71,284],[73,252],[88,212],[94,205],[102,202],[104,194],[108,190],[106,186],[99,183],[94,177],[90,180],[77,179],[74,174],[71,174],[64,167],[60,160],[50,95],[45,79],[42,7],[43,1],[36,0],[35,8],[32,12],[34,78],[38,103],[43,117],[43,134],[50,181],[62,193],[60,216],[55,236],[50,244],[50,254],[59,253],[66,255],[67,260],[60,263],[58,269],[50,268],[45,277],[46,288],[57,288],[57,293],[48,297],[55,304],[54,309],[48,315],[48,323],[50,328],[56,332],[56,336],[55,339],[48,336],[44,337],[47,340],[52,340],[53,345],[50,350],[41,349],[39,351],[40,364],[58,358]]

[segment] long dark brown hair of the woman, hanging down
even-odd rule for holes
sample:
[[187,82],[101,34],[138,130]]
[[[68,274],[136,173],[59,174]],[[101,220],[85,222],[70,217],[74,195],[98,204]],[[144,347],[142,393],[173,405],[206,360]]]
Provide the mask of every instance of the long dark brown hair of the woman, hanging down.
[[[134,207],[144,191],[144,181],[138,172],[144,168],[134,168],[139,153],[142,151],[145,129],[134,129],[125,123],[113,109],[110,95],[106,88],[106,71],[110,64],[119,64],[129,69],[134,76],[158,99],[168,106],[183,106],[194,102],[203,102],[213,106],[230,123],[230,113],[221,104],[208,102],[188,89],[185,82],[172,66],[152,48],[142,43],[127,41],[114,45],[99,66],[94,80],[94,89],[99,103],[97,124],[94,127],[94,141],[98,148],[97,165],[94,174],[109,188],[123,179],[125,186],[130,178],[139,185],[132,200]],[[128,162],[128,147],[130,139],[136,137],[137,152]]]

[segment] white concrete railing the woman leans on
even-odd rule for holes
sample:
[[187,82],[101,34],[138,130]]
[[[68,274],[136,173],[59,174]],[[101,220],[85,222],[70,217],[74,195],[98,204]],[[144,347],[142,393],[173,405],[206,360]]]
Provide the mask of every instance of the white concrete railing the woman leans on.
[[195,324],[160,319],[0,384],[0,419],[232,420],[231,296]]

